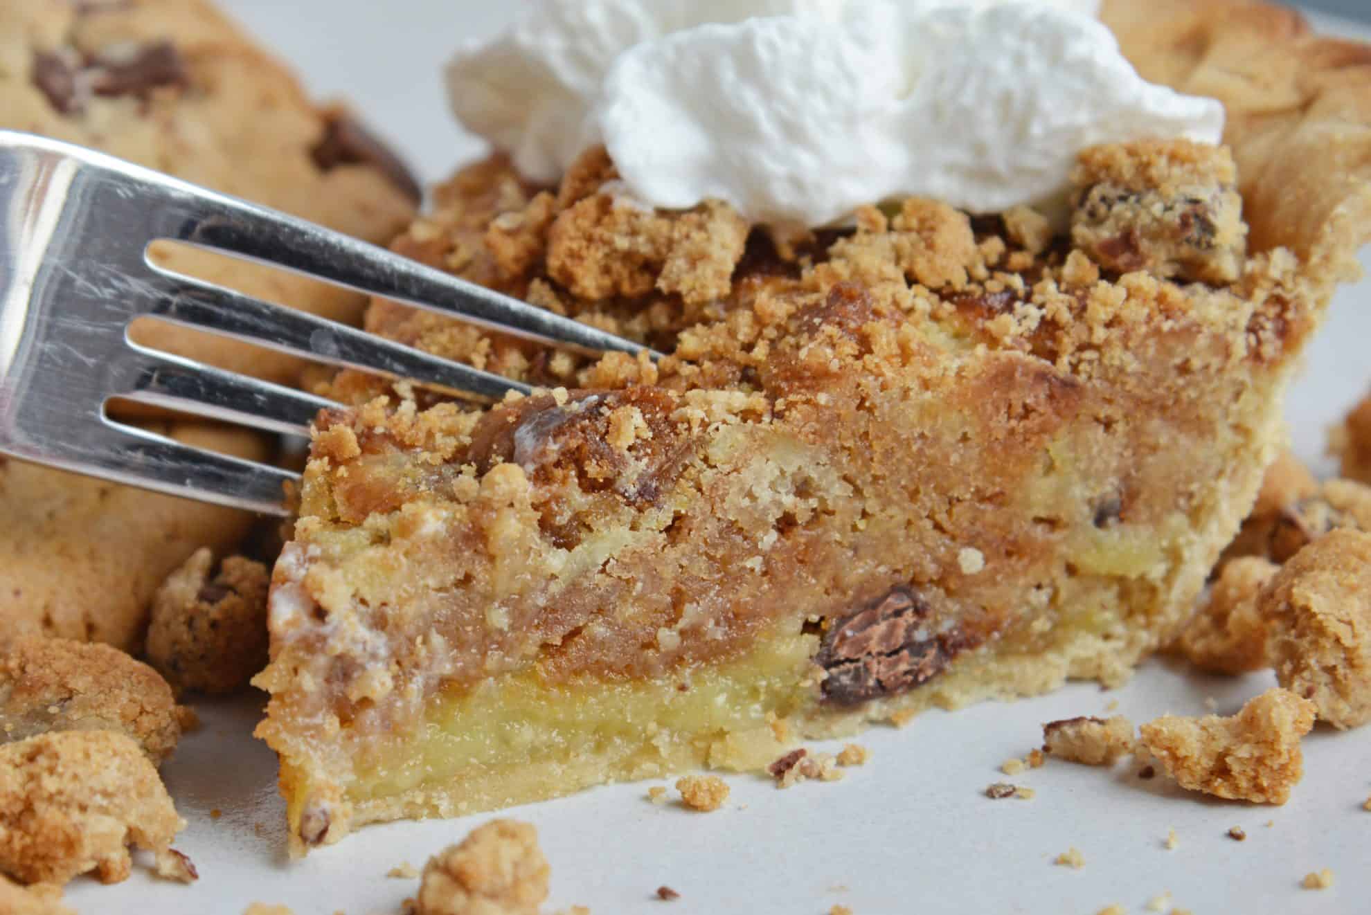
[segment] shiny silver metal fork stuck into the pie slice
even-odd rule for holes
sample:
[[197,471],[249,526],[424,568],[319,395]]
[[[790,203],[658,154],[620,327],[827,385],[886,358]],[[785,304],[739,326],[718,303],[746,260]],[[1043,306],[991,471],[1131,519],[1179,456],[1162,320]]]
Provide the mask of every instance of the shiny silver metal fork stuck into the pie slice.
[[[307,433],[324,397],[129,340],[152,316],[495,399],[528,386],[155,266],[170,240],[583,352],[643,347],[303,219],[90,149],[0,131],[0,453],[284,515],[298,475],[115,422],[110,397]],[[658,353],[647,351],[650,356]]]

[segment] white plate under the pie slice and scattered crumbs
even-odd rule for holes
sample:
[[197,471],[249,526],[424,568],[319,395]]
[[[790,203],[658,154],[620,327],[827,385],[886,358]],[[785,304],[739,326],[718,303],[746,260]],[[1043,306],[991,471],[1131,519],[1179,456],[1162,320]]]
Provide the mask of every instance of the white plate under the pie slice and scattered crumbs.
[[[426,179],[478,149],[444,111],[436,75],[443,56],[463,33],[487,32],[518,5],[228,1],[314,90],[354,99]],[[1338,294],[1290,396],[1296,448],[1324,471],[1331,468],[1324,427],[1371,379],[1368,299],[1371,282]],[[1015,704],[932,712],[903,730],[876,729],[861,738],[871,763],[838,784],[780,792],[762,778],[732,777],[729,803],[709,815],[655,807],[644,799],[646,784],[500,815],[537,826],[553,864],[553,903],[590,905],[598,915],[820,915],[834,904],[857,915],[1087,915],[1111,903],[1143,912],[1164,890],[1198,915],[1368,911],[1371,812],[1361,803],[1371,793],[1364,764],[1371,729],[1313,733],[1305,741],[1305,779],[1281,808],[1208,800],[1161,778],[1141,782],[1127,766],[1049,764],[1010,779],[1034,788],[1034,800],[983,794],[987,784],[1004,779],[1001,762],[1039,742],[1045,720],[1104,712],[1113,701],[1134,720],[1165,711],[1202,714],[1208,697],[1228,712],[1270,682],[1268,675],[1198,678],[1152,662],[1112,693],[1078,684]],[[182,741],[165,770],[189,820],[177,845],[199,866],[199,883],[156,882],[144,873],[117,886],[78,879],[69,888],[78,911],[239,915],[248,903],[265,901],[299,915],[396,912],[417,881],[385,873],[402,862],[421,867],[489,819],[373,826],[289,863],[274,757],[248,736],[259,705],[256,696],[200,703],[204,729]],[[1230,826],[1245,829],[1248,840],[1228,838]],[[1175,851],[1164,848],[1168,829],[1180,840]],[[1071,847],[1084,855],[1082,870],[1052,863]],[[1300,889],[1304,874],[1323,867],[1335,873],[1333,889]],[[657,901],[653,893],[664,883],[681,897]]]

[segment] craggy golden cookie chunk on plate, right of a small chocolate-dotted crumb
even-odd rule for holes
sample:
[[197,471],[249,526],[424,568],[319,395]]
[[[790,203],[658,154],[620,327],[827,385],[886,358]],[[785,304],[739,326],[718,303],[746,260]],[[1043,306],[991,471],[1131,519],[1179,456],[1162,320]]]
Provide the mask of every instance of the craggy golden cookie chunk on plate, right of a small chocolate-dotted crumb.
[[1313,716],[1313,703],[1276,686],[1231,718],[1164,715],[1139,730],[1143,747],[1182,788],[1285,804],[1304,774],[1300,738]]

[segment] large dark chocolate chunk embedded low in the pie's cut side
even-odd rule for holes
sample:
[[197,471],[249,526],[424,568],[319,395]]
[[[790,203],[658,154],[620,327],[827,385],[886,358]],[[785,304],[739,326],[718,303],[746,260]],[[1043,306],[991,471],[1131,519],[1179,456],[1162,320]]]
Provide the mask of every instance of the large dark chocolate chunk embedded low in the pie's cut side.
[[965,645],[956,629],[924,631],[930,611],[921,596],[898,585],[834,622],[814,655],[828,673],[823,697],[850,705],[906,692],[941,674]]

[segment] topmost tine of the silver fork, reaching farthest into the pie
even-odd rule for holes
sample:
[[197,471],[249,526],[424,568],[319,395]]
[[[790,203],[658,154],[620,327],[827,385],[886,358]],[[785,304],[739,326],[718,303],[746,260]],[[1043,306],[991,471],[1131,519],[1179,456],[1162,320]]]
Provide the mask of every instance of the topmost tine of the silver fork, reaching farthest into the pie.
[[174,237],[180,241],[554,347],[590,353],[646,352],[653,359],[662,358],[632,340],[458,279],[343,233],[182,182],[162,184],[169,185],[166,190],[191,195],[200,204],[200,218],[182,221],[175,227]]

